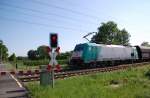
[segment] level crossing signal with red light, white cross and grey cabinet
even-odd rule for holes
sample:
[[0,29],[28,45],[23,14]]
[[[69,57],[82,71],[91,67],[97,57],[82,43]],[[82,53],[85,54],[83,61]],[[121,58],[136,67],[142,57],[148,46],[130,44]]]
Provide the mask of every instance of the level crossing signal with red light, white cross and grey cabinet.
[[60,71],[60,65],[56,60],[56,56],[59,54],[60,48],[58,47],[58,35],[57,33],[51,33],[49,35],[50,47],[47,47],[47,52],[50,56],[50,62],[48,65],[41,65],[40,84],[51,85],[54,88],[55,70]]

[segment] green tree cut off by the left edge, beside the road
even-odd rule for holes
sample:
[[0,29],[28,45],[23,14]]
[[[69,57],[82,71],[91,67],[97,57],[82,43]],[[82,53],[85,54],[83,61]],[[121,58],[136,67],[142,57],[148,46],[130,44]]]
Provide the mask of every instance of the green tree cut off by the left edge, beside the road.
[[8,59],[8,48],[3,44],[2,40],[0,40],[0,56],[1,55],[3,60]]

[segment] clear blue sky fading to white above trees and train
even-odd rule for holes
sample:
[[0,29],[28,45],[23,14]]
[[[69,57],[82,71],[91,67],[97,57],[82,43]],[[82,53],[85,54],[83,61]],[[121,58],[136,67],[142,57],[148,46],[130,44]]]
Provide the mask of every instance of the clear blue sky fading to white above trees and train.
[[149,11],[149,0],[0,0],[0,39],[9,54],[26,56],[30,49],[49,45],[49,33],[56,32],[65,52],[112,20],[130,33],[132,45],[140,45],[150,42]]

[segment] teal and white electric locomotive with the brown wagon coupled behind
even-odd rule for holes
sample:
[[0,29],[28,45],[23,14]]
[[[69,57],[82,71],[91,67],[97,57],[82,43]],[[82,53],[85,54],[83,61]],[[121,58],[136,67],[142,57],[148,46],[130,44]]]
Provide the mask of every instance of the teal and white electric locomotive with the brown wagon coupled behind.
[[150,48],[82,43],[75,46],[70,63],[73,66],[102,66],[131,63],[141,59],[150,59]]

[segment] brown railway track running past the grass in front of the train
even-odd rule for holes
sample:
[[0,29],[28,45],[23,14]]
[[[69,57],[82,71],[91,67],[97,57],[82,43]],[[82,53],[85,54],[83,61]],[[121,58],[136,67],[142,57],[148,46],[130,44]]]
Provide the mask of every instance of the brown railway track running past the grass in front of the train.
[[[110,72],[116,70],[124,70],[129,67],[138,67],[150,64],[150,62],[142,62],[142,63],[134,63],[134,64],[125,64],[113,67],[104,67],[104,68],[93,68],[93,69],[83,69],[83,70],[76,70],[76,71],[66,71],[66,72],[57,72],[55,73],[55,79],[65,79],[72,76],[79,76],[79,75],[88,75],[94,74],[99,72]],[[17,76],[22,82],[31,82],[31,81],[39,81],[40,74],[30,74],[30,75],[18,75]]]

